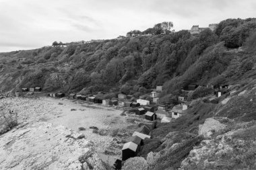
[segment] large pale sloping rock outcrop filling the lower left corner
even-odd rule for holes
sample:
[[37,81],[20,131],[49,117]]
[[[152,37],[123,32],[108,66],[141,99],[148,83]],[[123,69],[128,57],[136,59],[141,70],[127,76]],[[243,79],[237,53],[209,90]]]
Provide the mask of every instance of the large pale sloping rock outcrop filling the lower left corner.
[[64,126],[22,123],[0,136],[0,169],[105,169],[93,147]]

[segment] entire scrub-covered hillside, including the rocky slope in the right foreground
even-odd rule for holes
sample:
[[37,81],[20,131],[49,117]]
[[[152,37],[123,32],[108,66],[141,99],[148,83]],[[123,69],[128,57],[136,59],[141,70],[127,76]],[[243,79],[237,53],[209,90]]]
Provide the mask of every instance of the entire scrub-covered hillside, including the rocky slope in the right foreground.
[[[137,160],[141,166],[256,169],[255,18],[226,19],[214,32],[205,29],[193,35],[182,30],[5,52],[0,63],[3,92],[42,87],[44,92],[84,95],[101,91],[104,99],[118,93],[151,99],[148,93],[163,85],[160,103],[172,108],[178,96],[185,95],[189,108],[151,132],[139,151],[145,159]],[[190,83],[200,86],[181,90]],[[210,85],[230,86],[214,103]]]

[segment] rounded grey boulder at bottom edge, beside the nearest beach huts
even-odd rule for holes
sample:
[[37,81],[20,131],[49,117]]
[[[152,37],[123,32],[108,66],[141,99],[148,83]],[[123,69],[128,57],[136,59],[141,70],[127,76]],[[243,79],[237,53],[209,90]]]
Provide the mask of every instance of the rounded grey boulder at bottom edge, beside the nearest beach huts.
[[122,167],[123,170],[147,170],[148,164],[143,157],[133,157],[127,159]]

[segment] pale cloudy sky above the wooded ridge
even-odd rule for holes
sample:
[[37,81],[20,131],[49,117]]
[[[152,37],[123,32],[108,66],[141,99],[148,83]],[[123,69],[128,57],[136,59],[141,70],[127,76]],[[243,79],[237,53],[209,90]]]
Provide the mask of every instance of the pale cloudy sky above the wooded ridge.
[[0,0],[0,52],[112,39],[173,22],[174,30],[256,17],[255,0]]

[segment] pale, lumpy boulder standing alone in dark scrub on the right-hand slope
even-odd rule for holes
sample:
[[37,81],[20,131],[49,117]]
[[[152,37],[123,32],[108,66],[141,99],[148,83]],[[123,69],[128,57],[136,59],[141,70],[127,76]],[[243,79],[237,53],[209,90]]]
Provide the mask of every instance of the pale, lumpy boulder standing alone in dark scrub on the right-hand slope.
[[198,134],[209,138],[215,132],[224,129],[226,126],[214,118],[207,118],[204,124],[199,124]]

